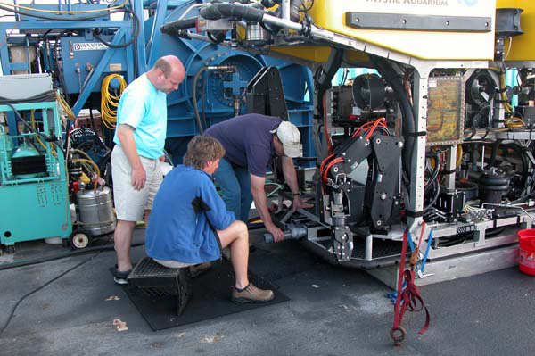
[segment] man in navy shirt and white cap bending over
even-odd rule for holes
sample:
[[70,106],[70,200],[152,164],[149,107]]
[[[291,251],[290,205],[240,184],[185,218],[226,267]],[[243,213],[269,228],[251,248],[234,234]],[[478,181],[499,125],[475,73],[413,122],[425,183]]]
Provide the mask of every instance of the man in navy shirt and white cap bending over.
[[254,200],[268,231],[275,241],[282,240],[284,233],[275,226],[268,211],[264,190],[266,169],[275,154],[281,156],[284,179],[292,189],[292,209],[312,206],[300,200],[292,161],[293,157],[300,155],[299,129],[277,117],[250,113],[219,122],[208,128],[205,135],[217,138],[226,150],[214,178],[222,188],[228,210],[247,222]]

